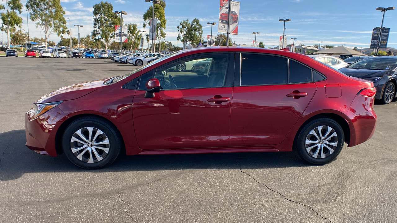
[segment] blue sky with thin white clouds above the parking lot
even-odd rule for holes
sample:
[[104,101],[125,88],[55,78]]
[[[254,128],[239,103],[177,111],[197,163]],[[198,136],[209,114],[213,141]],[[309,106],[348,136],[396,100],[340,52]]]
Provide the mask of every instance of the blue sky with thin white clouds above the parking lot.
[[[4,0],[0,0],[3,2]],[[23,4],[26,0],[22,0]],[[71,19],[72,35],[77,37],[77,27],[81,36],[92,31],[92,6],[99,0],[61,0],[66,12],[65,18]],[[145,0],[108,0],[114,6],[114,10],[125,11],[123,16],[126,23],[143,22],[142,15],[146,12],[150,3]],[[256,40],[263,41],[266,47],[278,45],[279,36],[283,33],[283,22],[279,19],[291,19],[285,27],[285,35],[288,44],[290,38],[297,38],[296,44],[313,45],[317,41],[322,44],[339,46],[346,44],[348,47],[367,48],[370,44],[371,32],[374,27],[380,26],[382,12],[376,11],[378,7],[397,7],[396,0],[241,0],[239,16],[239,35],[231,35],[237,44],[252,45],[254,35],[252,32],[260,32]],[[183,19],[198,18],[203,26],[204,34],[210,34],[211,26],[207,22],[217,22],[219,19],[219,0],[166,0],[166,40],[177,44],[177,25]],[[23,29],[27,30],[26,11],[22,14]],[[397,48],[397,10],[385,13],[384,26],[391,28],[389,43],[387,46]],[[69,20],[67,20],[69,27]],[[214,26],[213,35],[217,34],[218,24]],[[143,29],[145,30],[145,29]],[[146,29],[146,31],[148,31]],[[31,37],[40,37],[40,29],[37,29],[29,20],[29,32]],[[44,37],[44,35],[42,35]],[[4,37],[6,35],[4,34]],[[56,34],[52,34],[49,40],[58,42]],[[182,44],[179,42],[179,46]]]

